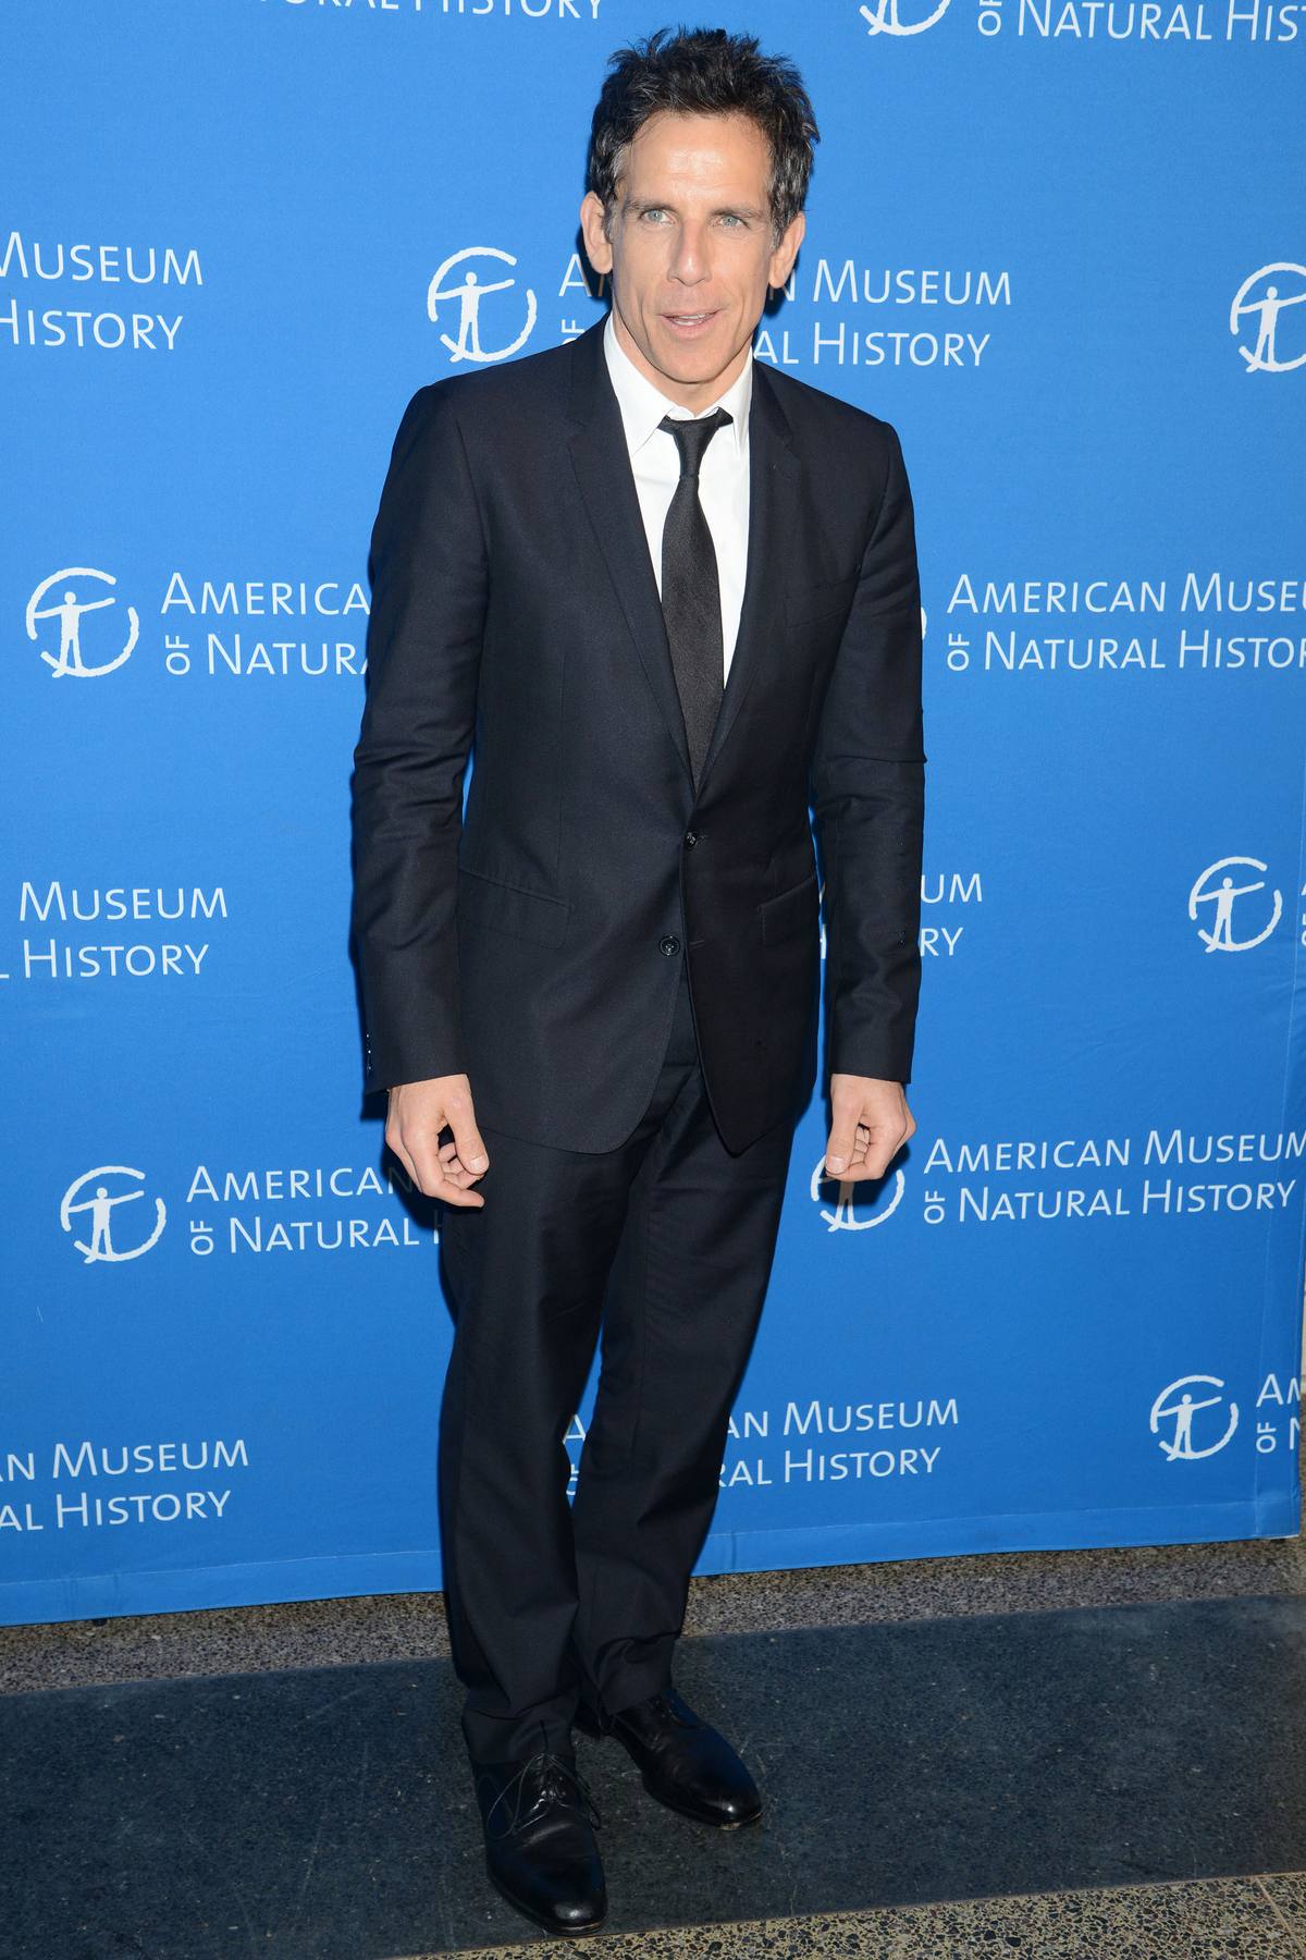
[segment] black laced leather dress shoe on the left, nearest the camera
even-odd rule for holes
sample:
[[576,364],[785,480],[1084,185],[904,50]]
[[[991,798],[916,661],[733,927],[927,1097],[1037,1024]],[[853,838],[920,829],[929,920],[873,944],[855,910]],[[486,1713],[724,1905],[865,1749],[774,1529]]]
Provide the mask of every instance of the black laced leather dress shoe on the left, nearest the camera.
[[486,1872],[509,1905],[556,1936],[595,1933],[607,1917],[601,1823],[576,1756],[542,1748],[476,1766]]

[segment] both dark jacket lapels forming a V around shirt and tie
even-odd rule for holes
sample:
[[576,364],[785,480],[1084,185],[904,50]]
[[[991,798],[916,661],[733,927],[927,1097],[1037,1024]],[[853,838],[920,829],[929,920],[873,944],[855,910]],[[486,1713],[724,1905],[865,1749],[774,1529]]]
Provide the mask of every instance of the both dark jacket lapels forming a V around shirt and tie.
[[[658,598],[658,580],[648,557],[644,517],[634,488],[621,408],[607,376],[603,323],[572,343],[572,466],[589,523],[607,563],[613,588],[630,629],[630,639],[668,725],[685,778],[693,784],[685,719],[679,710],[672,649]],[[699,792],[713,760],[752,686],[775,621],[783,619],[787,564],[797,517],[801,465],[789,445],[789,427],[775,400],[771,376],[754,361],[752,410],[748,416],[748,557],[738,639],[730,655],[721,710],[703,759]]]

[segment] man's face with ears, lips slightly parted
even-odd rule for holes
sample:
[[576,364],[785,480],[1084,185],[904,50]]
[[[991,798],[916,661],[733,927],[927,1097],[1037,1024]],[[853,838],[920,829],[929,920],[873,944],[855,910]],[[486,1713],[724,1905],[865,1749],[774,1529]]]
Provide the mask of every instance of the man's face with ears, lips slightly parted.
[[595,272],[611,272],[617,339],[654,386],[709,408],[748,359],[768,286],[799,251],[799,214],[771,245],[771,153],[746,116],[660,110],[627,149],[611,239],[603,206],[580,208]]

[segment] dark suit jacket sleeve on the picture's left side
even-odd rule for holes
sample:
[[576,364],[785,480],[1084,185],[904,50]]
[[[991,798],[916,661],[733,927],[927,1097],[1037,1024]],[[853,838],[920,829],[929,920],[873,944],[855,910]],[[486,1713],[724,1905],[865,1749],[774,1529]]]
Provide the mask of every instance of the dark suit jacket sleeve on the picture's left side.
[[462,1074],[456,880],[488,553],[444,384],[403,412],[372,527],[352,778],[364,1092]]

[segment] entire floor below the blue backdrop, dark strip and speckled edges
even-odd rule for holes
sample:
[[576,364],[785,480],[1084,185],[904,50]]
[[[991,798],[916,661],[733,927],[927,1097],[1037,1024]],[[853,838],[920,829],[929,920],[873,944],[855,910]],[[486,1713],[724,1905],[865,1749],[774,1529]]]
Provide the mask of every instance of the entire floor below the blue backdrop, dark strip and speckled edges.
[[439,1595],[0,1629],[0,1960],[1306,1960],[1306,1541],[699,1580],[687,1633],[768,1819],[582,1742],[562,1944],[484,1884]]

